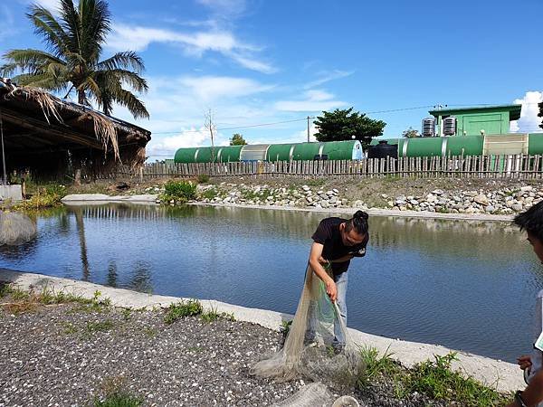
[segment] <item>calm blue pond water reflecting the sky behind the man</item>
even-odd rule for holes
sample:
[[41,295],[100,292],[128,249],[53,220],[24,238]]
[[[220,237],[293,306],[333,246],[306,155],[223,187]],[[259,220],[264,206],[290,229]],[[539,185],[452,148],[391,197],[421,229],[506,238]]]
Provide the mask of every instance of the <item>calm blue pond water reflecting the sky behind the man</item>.
[[[324,213],[154,205],[40,213],[0,267],[293,314]],[[531,348],[543,268],[506,222],[370,217],[348,271],[348,326],[514,362]]]

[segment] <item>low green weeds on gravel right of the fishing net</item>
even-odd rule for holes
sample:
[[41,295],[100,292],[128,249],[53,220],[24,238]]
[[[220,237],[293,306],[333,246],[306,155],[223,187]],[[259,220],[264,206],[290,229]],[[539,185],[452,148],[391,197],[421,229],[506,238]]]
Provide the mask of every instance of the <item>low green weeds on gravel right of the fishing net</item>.
[[416,392],[432,400],[472,407],[500,405],[507,401],[505,394],[452,370],[452,362],[457,360],[453,352],[434,355],[433,361],[415,364],[412,369],[403,368],[388,352],[379,356],[375,348],[362,348],[360,355],[365,366],[358,375],[357,387],[360,389],[390,381],[398,399]]

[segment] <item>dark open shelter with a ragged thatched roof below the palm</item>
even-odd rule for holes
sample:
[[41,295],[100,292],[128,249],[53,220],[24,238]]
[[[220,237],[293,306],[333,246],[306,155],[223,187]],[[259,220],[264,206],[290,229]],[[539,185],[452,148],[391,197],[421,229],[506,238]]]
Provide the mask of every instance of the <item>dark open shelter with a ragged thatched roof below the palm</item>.
[[8,156],[92,149],[113,161],[141,164],[151,138],[145,128],[5,79],[0,79],[0,117]]

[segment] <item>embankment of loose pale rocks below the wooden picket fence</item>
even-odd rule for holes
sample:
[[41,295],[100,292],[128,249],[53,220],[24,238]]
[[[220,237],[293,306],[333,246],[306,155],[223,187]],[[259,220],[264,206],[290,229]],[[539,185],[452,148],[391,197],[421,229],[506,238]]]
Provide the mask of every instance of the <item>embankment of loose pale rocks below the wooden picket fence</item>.
[[[221,183],[198,185],[198,201],[210,204],[274,205],[299,208],[358,209],[386,208],[396,211],[432,213],[512,214],[528,209],[543,199],[543,187],[533,185],[499,188],[454,188],[429,193],[379,194],[368,199],[355,199],[348,189],[326,189],[313,185],[245,185]],[[359,198],[360,196],[357,196]],[[373,204],[367,204],[372,202]]]

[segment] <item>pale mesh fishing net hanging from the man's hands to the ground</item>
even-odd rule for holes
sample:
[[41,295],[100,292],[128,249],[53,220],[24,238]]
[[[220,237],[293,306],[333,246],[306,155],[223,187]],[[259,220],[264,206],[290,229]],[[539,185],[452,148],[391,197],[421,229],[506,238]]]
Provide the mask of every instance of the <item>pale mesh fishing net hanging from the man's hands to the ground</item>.
[[[331,272],[329,268],[327,271]],[[334,336],[344,338],[344,343],[333,345]],[[338,305],[330,301],[324,283],[308,265],[300,302],[283,347],[254,364],[251,373],[278,381],[304,377],[341,391],[352,388],[362,368],[359,348],[339,317]]]

